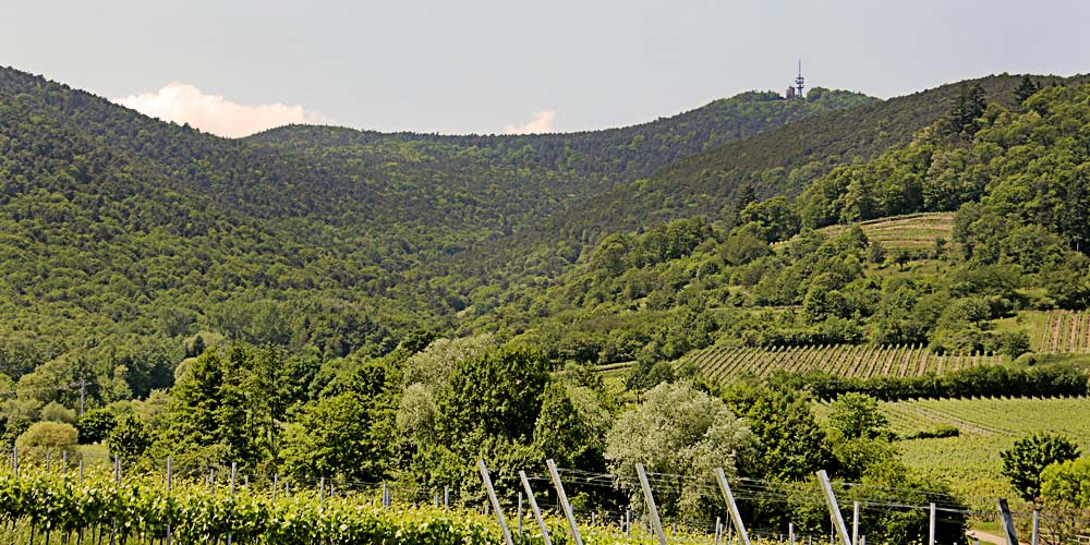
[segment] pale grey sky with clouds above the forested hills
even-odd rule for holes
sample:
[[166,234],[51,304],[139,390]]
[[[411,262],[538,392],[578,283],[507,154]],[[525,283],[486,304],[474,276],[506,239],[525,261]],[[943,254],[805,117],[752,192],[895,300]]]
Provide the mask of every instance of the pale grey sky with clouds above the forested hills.
[[0,65],[205,131],[580,131],[748,89],[1090,72],[1083,0],[0,2]]

